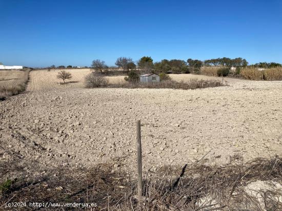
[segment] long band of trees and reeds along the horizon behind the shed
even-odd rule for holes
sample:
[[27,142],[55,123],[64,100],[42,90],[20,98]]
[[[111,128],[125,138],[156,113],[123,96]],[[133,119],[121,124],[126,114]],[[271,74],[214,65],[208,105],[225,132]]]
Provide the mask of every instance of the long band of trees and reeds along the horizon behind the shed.
[[[107,75],[115,68],[122,69],[128,76],[126,81],[134,81],[142,74],[202,74],[207,76],[222,76],[236,77],[249,80],[281,80],[282,64],[275,62],[259,62],[256,64],[248,64],[244,58],[215,58],[207,60],[198,60],[188,58],[187,60],[180,59],[163,59],[161,61],[153,61],[150,56],[143,56],[136,62],[130,57],[118,57],[115,61],[116,66],[109,67],[105,61],[95,59],[92,61],[91,69],[95,72]],[[85,66],[87,67],[87,66]],[[64,65],[51,68],[66,68]],[[76,66],[68,65],[67,68],[77,68]],[[262,72],[261,72],[262,71]],[[165,76],[165,75],[164,75]]]

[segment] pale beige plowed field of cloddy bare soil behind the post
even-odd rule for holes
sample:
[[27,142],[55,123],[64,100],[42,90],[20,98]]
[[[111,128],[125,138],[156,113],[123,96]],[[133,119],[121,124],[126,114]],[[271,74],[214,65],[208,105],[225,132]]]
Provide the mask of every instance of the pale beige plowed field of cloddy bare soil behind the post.
[[88,72],[72,70],[75,83],[59,85],[56,71],[32,71],[26,93],[0,102],[0,157],[70,168],[119,158],[135,166],[137,119],[145,169],[184,165],[204,155],[217,163],[234,154],[245,160],[282,156],[282,82],[86,89],[82,79]]

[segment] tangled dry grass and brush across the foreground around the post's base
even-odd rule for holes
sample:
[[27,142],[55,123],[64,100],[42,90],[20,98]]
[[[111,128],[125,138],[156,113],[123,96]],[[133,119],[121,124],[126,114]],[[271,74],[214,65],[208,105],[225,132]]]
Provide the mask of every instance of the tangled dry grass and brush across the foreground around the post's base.
[[[247,188],[254,181],[281,184],[280,157],[257,158],[244,163],[236,155],[224,166],[205,166],[203,163],[204,160],[189,163],[183,168],[163,167],[155,173],[145,172],[144,210],[281,210],[281,190]],[[1,208],[9,200],[97,203],[95,210],[137,210],[140,204],[134,197],[137,193],[136,180],[123,166],[117,169],[118,165],[122,164],[116,160],[92,169],[62,167],[37,177],[30,172],[28,177],[23,174],[17,180],[11,178],[12,184],[2,192]],[[7,183],[7,172],[25,171],[16,161],[2,162],[0,169],[2,184]],[[252,191],[256,191],[257,195],[253,195]],[[26,207],[23,210],[33,209]],[[85,209],[80,207],[75,210]]]

